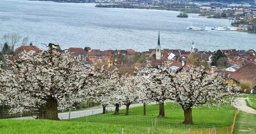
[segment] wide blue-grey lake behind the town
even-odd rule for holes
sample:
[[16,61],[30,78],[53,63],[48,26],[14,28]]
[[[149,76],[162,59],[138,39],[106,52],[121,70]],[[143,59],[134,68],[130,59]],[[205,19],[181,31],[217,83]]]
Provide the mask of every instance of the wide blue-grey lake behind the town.
[[245,32],[191,31],[193,25],[227,26],[227,19],[209,19],[179,12],[122,8],[96,8],[95,4],[50,1],[0,0],[0,35],[20,33],[33,44],[59,43],[62,49],[146,51],[155,48],[158,30],[162,48],[189,50],[192,40],[199,50],[256,49],[256,34]]

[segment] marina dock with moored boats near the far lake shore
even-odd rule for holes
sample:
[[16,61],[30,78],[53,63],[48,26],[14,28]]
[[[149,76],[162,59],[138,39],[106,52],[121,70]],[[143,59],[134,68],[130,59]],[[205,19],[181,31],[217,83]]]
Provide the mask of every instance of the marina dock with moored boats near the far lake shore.
[[237,31],[237,27],[235,26],[188,26],[187,30],[195,30],[195,31]]

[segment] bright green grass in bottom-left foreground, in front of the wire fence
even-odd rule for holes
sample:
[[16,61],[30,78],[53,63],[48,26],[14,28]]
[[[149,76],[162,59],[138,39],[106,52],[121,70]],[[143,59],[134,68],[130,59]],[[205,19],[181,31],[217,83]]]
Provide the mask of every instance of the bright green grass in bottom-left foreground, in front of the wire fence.
[[122,126],[52,120],[0,121],[0,134],[113,134]]

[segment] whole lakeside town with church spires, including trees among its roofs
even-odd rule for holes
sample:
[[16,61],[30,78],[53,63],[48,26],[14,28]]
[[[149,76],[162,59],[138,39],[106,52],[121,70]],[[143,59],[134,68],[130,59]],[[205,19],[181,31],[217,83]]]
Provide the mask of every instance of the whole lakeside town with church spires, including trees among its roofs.
[[[10,48],[7,44],[4,45],[2,55],[4,59],[15,60],[22,52],[39,52],[40,49],[30,43],[28,46],[20,46],[15,49],[14,54],[6,51]],[[60,49],[60,48],[59,48]],[[90,47],[75,48],[70,47],[67,49],[72,57],[79,65],[106,65],[113,71],[119,72],[124,75],[135,75],[141,73],[143,76],[148,76],[137,68],[143,68],[147,64],[153,66],[161,66],[166,61],[171,61],[170,68],[180,72],[187,66],[204,66],[211,72],[223,73],[231,75],[231,78],[237,82],[248,80],[252,82],[253,89],[256,86],[256,77],[248,70],[256,69],[256,52],[255,50],[216,50],[216,51],[200,51],[194,46],[194,41],[191,43],[191,49],[174,50],[161,48],[160,33],[156,48],[149,49],[148,51],[136,52],[133,49],[127,50],[99,50],[91,49]],[[248,91],[248,93],[255,93],[256,91]]]

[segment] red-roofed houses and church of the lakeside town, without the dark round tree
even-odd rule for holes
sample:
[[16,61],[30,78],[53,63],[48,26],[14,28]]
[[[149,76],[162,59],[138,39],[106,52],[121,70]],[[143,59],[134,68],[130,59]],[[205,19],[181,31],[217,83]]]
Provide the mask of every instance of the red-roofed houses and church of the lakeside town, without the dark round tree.
[[[30,44],[29,46],[21,46],[15,50],[15,53],[25,51],[39,52],[39,48]],[[252,82],[252,88],[256,87],[256,52],[255,50],[221,50],[228,57],[228,68],[220,68],[217,66],[210,66],[211,56],[214,52],[211,51],[199,51],[194,47],[192,42],[191,49],[189,51],[176,50],[176,49],[162,49],[160,45],[160,35],[158,37],[158,43],[156,48],[149,49],[148,51],[136,52],[141,57],[147,57],[147,60],[143,62],[135,62],[132,65],[125,62],[117,64],[114,58],[115,55],[123,55],[124,57],[130,57],[135,54],[132,49],[127,50],[104,50],[86,48],[74,48],[68,49],[68,52],[74,57],[78,64],[81,65],[95,65],[109,68],[109,70],[117,71],[118,73],[138,73],[138,68],[146,67],[147,65],[157,66],[163,65],[165,61],[171,61],[170,68],[174,71],[183,71],[186,67],[190,66],[189,58],[198,58],[199,62],[207,61],[209,68],[213,72],[229,74],[231,78],[237,82],[242,80],[249,80]],[[142,76],[148,76],[149,74],[143,71],[139,72]]]

